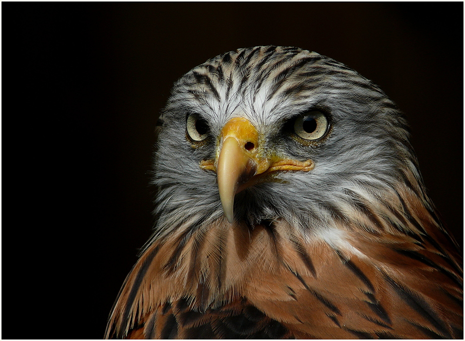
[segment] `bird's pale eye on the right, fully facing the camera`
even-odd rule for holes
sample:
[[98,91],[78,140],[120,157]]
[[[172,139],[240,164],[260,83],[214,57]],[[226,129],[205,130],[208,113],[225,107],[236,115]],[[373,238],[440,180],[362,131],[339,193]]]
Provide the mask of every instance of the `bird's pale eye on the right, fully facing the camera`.
[[328,117],[321,111],[312,110],[297,116],[294,132],[305,140],[322,138],[329,128]]

